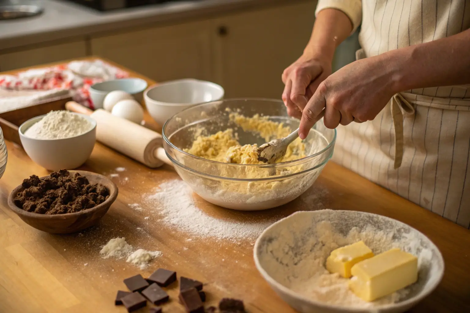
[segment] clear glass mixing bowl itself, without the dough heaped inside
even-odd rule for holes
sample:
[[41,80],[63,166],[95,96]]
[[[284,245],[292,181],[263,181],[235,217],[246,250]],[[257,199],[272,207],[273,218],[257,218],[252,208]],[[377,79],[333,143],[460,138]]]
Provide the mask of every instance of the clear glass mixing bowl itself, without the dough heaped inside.
[[[164,148],[175,170],[205,200],[235,210],[263,210],[292,201],[307,190],[333,155],[336,130],[323,122],[305,138],[306,157],[262,165],[222,163],[184,151],[199,135],[208,136],[232,128],[240,144],[262,145],[259,134],[245,131],[229,115],[259,114],[292,131],[299,121],[287,115],[284,104],[274,99],[227,99],[190,107],[173,115],[163,127]],[[275,138],[270,138],[270,140]]]

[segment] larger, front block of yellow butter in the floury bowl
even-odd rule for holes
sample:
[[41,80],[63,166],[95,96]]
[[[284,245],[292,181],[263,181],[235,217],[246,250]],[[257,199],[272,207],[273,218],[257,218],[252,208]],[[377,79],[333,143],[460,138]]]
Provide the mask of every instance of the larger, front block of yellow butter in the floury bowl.
[[418,259],[392,249],[351,268],[349,288],[362,300],[374,301],[418,280]]

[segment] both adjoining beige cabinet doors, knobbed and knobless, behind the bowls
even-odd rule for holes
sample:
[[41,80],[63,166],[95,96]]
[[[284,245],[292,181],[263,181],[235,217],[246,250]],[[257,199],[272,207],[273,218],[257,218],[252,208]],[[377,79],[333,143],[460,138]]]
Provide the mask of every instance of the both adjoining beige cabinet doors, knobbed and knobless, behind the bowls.
[[281,74],[302,53],[316,1],[91,38],[91,52],[156,81],[192,77],[226,97],[281,98]]

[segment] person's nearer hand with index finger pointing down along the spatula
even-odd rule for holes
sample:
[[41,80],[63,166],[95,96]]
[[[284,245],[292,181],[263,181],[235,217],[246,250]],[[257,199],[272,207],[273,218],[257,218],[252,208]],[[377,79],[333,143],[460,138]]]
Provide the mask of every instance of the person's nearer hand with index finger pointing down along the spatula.
[[323,109],[323,122],[330,129],[373,120],[397,92],[391,67],[373,57],[354,61],[326,78],[303,110],[299,137],[307,137]]

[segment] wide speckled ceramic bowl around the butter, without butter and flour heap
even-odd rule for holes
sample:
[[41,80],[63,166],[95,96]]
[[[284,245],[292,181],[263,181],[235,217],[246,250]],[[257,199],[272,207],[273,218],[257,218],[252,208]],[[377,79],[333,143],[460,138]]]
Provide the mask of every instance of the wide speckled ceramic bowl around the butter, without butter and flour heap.
[[[296,284],[298,279],[305,280],[308,285],[308,279],[315,274],[306,273],[306,271],[311,271],[309,265],[313,264],[312,256],[319,255],[317,253],[321,251],[321,258],[316,260],[324,262],[324,258],[326,259],[331,252],[326,251],[329,249],[325,248],[325,246],[329,247],[325,244],[327,242],[325,238],[329,235],[327,234],[328,227],[324,227],[324,222],[330,223],[333,233],[342,236],[347,235],[354,227],[361,232],[373,228],[372,233],[376,234],[376,237],[366,235],[359,237],[374,253],[399,247],[415,254],[418,257],[418,281],[407,287],[408,294],[399,302],[387,305],[376,303],[377,305],[368,308],[333,305],[293,291],[292,284]],[[381,233],[381,230],[384,233]],[[388,245],[384,238],[391,238],[393,246],[384,246]],[[359,239],[351,239],[352,242],[357,240]],[[381,241],[386,244],[380,244]],[[254,259],[258,271],[274,291],[290,306],[302,313],[405,312],[428,296],[439,284],[444,274],[442,255],[428,237],[407,224],[391,218],[356,211],[319,210],[294,213],[277,221],[261,234],[254,247]],[[306,267],[303,261],[307,262]]]

